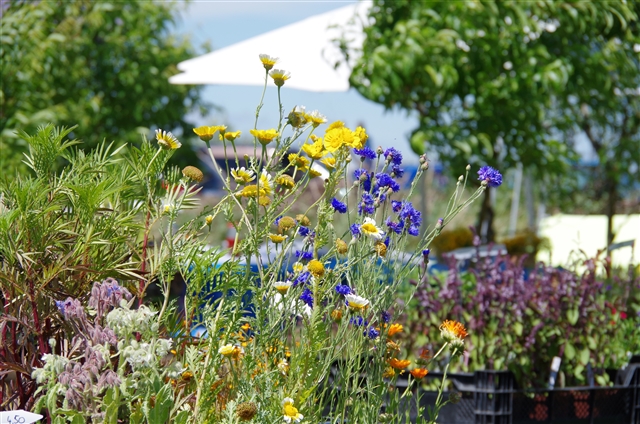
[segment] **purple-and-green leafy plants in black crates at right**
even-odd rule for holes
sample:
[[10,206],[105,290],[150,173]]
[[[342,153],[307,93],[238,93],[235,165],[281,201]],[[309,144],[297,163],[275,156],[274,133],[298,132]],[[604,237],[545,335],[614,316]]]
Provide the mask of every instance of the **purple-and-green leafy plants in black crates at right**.
[[453,316],[468,323],[471,334],[461,371],[509,369],[520,387],[542,388],[558,356],[559,385],[586,384],[588,365],[597,384],[609,384],[605,369],[620,368],[640,352],[629,343],[640,334],[640,276],[630,267],[613,278],[600,257],[570,269],[538,263],[526,270],[524,260],[476,256],[460,271],[450,258],[448,272],[412,281],[418,289],[404,316],[413,335],[407,343],[419,343],[415,335]]

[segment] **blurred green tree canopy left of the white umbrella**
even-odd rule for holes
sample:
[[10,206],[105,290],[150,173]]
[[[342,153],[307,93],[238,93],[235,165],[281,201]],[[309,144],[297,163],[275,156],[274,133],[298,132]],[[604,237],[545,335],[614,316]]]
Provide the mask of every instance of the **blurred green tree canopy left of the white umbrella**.
[[[171,85],[175,65],[194,56],[170,30],[175,3],[12,2],[2,16],[0,164],[21,166],[18,130],[78,125],[85,148],[104,138],[140,141],[152,126],[191,131],[199,90]],[[188,149],[183,149],[188,150]]]

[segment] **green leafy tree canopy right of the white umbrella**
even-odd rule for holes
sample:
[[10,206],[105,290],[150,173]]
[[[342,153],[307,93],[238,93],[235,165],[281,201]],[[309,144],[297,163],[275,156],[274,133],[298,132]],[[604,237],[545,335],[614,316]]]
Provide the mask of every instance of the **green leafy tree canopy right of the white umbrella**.
[[387,108],[417,111],[412,148],[435,150],[456,175],[467,162],[562,175],[577,159],[572,135],[591,125],[620,141],[596,136],[601,165],[624,157],[617,169],[631,175],[639,10],[622,1],[375,1],[351,83]]

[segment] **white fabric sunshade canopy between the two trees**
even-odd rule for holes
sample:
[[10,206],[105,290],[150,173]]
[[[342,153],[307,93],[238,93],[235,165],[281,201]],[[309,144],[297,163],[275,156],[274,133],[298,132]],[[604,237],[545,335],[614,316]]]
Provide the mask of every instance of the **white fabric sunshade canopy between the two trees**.
[[[336,40],[343,39],[350,47],[362,46],[362,24],[370,7],[371,2],[344,6],[186,60],[178,64],[182,73],[171,77],[169,82],[263,85],[265,70],[258,55],[264,53],[280,58],[274,68],[291,73],[287,88],[347,91],[351,68],[344,64]],[[342,64],[336,68],[338,62]]]

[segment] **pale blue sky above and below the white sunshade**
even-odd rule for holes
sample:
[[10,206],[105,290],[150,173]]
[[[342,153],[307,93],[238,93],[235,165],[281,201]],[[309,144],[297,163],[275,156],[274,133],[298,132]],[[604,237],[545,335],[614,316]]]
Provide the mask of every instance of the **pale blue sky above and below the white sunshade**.
[[[209,42],[213,50],[217,50],[353,3],[355,2],[193,1],[180,12],[177,30],[188,34],[194,46]],[[259,66],[257,59],[256,66]],[[206,86],[204,98],[222,107],[223,111],[212,111],[207,117],[196,115],[192,119],[202,125],[224,123],[232,129],[248,131],[253,127],[261,90],[261,87],[248,86]],[[417,118],[407,116],[403,111],[385,112],[382,106],[366,100],[354,89],[345,93],[312,93],[288,89],[283,90],[283,103],[285,110],[290,110],[295,105],[304,105],[307,110],[318,109],[330,121],[340,119],[350,127],[361,124],[371,135],[373,146],[394,146],[402,150],[406,158],[415,158],[408,144],[408,136],[418,125]],[[275,126],[277,119],[276,90],[270,87],[261,112],[261,122],[273,123]]]

